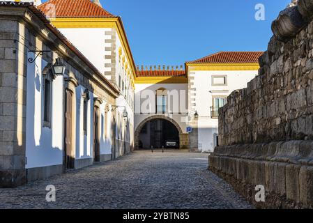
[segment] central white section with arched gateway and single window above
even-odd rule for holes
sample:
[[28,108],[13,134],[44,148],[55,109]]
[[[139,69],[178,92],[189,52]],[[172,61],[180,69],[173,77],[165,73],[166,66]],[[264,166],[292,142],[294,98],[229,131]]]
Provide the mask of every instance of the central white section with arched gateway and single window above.
[[188,78],[181,67],[137,68],[135,148],[189,148]]

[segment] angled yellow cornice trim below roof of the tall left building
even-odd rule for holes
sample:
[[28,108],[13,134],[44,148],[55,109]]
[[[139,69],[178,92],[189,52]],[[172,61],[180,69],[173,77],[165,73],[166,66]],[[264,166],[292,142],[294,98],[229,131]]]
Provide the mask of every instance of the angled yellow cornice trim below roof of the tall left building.
[[56,26],[56,28],[115,28],[117,33],[119,34],[119,38],[121,39],[121,43],[124,51],[126,52],[127,59],[130,63],[132,69],[132,78],[136,79],[136,66],[134,59],[132,57],[132,52],[130,51],[130,47],[128,46],[128,40],[126,37],[126,33],[123,29],[123,24],[119,20],[119,17],[79,17],[79,18],[54,18],[52,20],[52,24]]

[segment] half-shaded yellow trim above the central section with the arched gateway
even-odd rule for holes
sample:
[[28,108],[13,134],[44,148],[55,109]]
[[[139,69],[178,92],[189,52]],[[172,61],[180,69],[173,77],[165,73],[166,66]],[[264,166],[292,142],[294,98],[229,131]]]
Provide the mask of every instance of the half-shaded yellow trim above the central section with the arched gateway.
[[186,77],[137,77],[135,84],[188,84]]

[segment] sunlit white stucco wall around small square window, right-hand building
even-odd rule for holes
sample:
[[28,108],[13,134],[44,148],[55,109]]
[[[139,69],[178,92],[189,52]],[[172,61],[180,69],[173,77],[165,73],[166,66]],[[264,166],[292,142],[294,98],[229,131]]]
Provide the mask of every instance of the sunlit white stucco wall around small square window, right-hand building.
[[[190,95],[195,99],[196,106],[190,109],[190,114],[197,111],[198,119],[198,143],[199,149],[202,151],[213,151],[214,141],[213,134],[218,133],[218,119],[211,118],[211,107],[213,107],[214,96],[227,97],[231,92],[237,89],[247,87],[250,82],[258,74],[257,70],[196,70],[190,72],[194,77],[192,81],[196,95]],[[226,75],[226,86],[213,86],[212,76]]]

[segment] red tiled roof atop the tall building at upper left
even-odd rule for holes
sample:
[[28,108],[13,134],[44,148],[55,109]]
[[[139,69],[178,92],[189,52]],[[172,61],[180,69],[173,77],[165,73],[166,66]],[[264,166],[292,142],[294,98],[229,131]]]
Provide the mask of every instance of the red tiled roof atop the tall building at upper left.
[[49,15],[50,4],[56,8],[55,17],[116,17],[91,0],[50,0],[38,8]]

